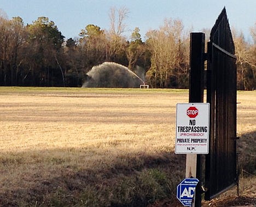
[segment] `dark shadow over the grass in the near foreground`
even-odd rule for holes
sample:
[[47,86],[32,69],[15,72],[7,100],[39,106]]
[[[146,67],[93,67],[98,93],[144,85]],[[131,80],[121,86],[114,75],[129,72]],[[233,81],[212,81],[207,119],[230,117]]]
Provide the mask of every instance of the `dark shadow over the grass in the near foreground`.
[[[247,171],[248,176],[255,175],[255,146],[256,132],[243,134],[237,141],[240,171]],[[51,153],[54,155],[54,150]],[[58,158],[53,159],[59,162]],[[7,162],[8,159],[0,159],[0,164]],[[175,155],[173,151],[118,155],[102,169],[77,170],[63,165],[59,176],[48,180],[39,177],[33,186],[0,193],[0,205],[179,206],[176,187],[184,173],[185,155]]]

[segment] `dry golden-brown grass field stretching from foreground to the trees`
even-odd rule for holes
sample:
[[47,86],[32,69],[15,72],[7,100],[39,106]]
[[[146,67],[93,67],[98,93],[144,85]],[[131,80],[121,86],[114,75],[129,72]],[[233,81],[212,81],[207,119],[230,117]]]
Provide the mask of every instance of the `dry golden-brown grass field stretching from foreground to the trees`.
[[[187,102],[188,90],[0,87],[0,206],[176,200],[176,103]],[[245,194],[256,180],[256,92],[237,102]]]

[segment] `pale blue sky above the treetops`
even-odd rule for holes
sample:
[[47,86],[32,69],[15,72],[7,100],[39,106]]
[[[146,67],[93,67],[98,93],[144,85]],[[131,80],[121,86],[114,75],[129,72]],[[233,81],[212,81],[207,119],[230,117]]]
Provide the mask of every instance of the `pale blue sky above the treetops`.
[[[109,29],[109,10],[126,7],[127,37],[138,27],[142,37],[149,29],[158,29],[164,19],[180,19],[185,29],[193,32],[211,29],[226,7],[229,23],[245,34],[256,22],[256,0],[0,0],[0,8],[8,18],[20,16],[25,25],[46,16],[68,38],[78,37],[81,29],[94,24]],[[129,38],[129,37],[128,37]]]

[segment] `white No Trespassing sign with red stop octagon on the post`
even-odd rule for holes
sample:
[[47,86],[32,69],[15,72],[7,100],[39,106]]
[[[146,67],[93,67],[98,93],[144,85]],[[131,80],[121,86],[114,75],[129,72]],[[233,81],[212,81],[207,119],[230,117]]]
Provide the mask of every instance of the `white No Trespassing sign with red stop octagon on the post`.
[[208,154],[209,103],[178,103],[176,107],[176,154]]

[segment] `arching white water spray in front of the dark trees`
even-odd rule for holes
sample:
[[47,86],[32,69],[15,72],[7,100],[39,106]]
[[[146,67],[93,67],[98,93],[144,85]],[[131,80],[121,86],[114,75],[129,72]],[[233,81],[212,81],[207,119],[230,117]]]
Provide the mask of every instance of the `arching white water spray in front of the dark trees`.
[[92,67],[86,74],[88,78],[82,87],[136,88],[141,84],[145,85],[144,69],[136,67],[135,72],[118,63],[104,62]]

